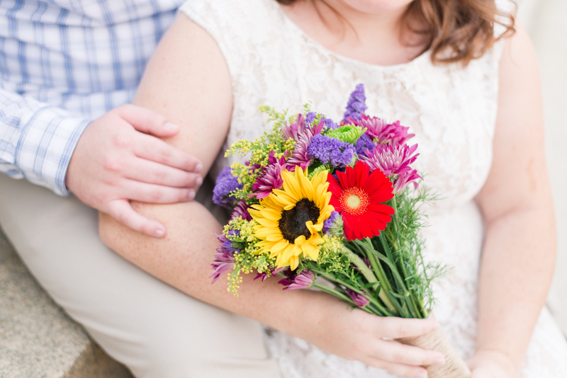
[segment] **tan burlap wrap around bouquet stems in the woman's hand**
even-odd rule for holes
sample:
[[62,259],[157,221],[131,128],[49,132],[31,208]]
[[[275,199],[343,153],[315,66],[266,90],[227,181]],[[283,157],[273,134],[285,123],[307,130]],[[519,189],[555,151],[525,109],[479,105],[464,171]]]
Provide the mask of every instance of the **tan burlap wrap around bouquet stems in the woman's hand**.
[[453,345],[447,340],[447,336],[437,329],[423,336],[415,338],[400,338],[400,343],[417,346],[427,350],[436,350],[443,353],[445,363],[443,365],[427,366],[428,378],[469,378],[471,370],[468,370],[466,362],[456,354]]

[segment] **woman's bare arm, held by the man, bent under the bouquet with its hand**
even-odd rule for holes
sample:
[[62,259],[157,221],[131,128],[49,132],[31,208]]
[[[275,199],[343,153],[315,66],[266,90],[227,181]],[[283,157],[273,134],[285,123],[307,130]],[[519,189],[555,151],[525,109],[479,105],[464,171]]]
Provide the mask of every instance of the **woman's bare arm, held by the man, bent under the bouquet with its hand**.
[[[208,172],[230,122],[230,75],[215,41],[183,14],[148,64],[135,104],[155,110],[179,125],[179,134],[167,142],[191,151],[203,162],[203,175]],[[427,333],[435,324],[429,319],[381,319],[364,311],[352,311],[327,294],[310,290],[284,292],[276,279],[260,282],[245,277],[240,297],[233,297],[223,280],[210,284],[210,263],[218,243],[215,232],[222,228],[208,210],[198,202],[137,203],[135,208],[162,222],[167,236],[145,236],[101,214],[103,241],[191,297],[303,338],[330,353],[403,376],[425,373],[419,365],[430,365],[439,358],[439,353],[382,340]]]

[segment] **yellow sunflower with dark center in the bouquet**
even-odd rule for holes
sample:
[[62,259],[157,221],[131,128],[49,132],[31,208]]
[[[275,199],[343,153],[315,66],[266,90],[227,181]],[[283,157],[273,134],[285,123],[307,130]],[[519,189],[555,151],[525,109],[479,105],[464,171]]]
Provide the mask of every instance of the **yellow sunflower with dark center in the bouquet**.
[[290,266],[295,270],[299,257],[319,257],[323,239],[320,231],[325,219],[335,209],[329,205],[331,193],[327,191],[327,172],[322,171],[309,180],[307,169],[297,166],[293,172],[283,171],[281,189],[260,200],[249,209],[258,222],[254,234],[260,239],[258,253],[269,251],[276,257],[277,268]]

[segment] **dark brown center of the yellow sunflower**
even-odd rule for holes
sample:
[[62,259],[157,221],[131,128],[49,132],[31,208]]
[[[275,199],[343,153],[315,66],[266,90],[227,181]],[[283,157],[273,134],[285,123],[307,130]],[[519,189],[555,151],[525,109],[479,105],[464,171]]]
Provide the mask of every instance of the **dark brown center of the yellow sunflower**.
[[279,230],[283,239],[293,243],[298,236],[305,236],[309,239],[311,233],[305,223],[311,221],[317,223],[319,219],[319,207],[315,202],[302,198],[296,203],[296,207],[291,210],[283,210],[279,219]]

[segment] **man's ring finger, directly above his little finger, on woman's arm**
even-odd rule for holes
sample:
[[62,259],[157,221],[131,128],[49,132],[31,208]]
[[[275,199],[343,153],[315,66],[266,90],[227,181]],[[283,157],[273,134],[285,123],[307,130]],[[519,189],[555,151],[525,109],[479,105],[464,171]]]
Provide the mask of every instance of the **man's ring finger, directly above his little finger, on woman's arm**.
[[141,183],[128,180],[125,183],[125,197],[147,203],[177,203],[195,199],[192,188],[171,188],[169,186]]

